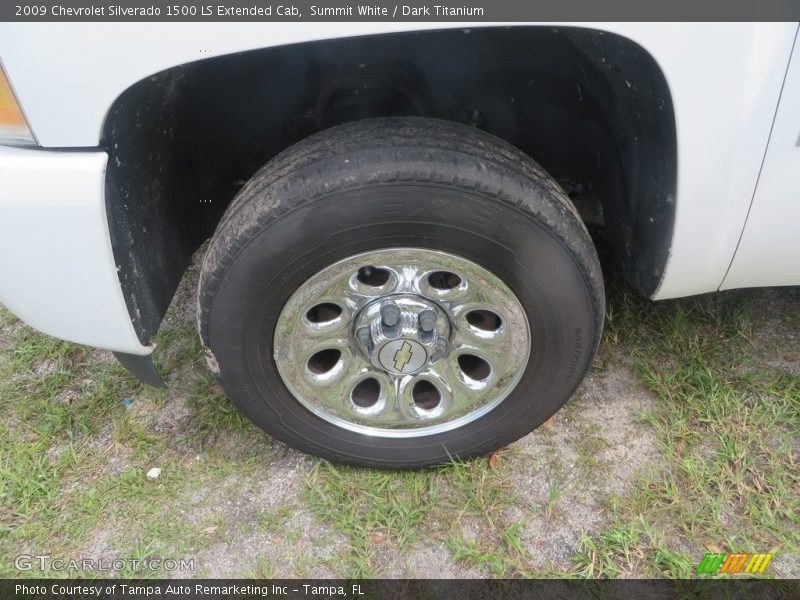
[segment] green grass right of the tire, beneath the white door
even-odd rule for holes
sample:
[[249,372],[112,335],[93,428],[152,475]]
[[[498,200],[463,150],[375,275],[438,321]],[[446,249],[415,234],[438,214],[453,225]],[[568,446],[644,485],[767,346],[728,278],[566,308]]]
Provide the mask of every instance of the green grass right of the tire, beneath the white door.
[[686,577],[701,556],[686,547],[798,552],[800,383],[753,354],[756,293],[610,302],[604,351],[631,355],[656,398],[645,419],[662,458],[581,539],[577,574]]

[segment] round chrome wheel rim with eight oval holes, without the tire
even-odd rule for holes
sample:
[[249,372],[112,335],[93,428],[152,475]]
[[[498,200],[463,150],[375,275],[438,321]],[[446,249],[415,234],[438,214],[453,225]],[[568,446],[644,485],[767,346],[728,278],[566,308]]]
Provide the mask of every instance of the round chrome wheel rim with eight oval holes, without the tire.
[[390,248],[340,260],[278,317],[274,359],[294,398],[343,429],[433,435],[500,404],[531,335],[511,289],[465,258]]

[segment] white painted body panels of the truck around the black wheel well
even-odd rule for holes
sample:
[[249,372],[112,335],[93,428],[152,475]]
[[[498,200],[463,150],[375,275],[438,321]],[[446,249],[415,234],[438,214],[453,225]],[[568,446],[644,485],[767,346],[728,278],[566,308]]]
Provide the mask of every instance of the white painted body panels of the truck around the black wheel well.
[[[0,302],[66,340],[151,352],[120,287],[104,198],[108,156],[99,149],[110,107],[137,81],[271,46],[502,25],[0,24],[0,60],[39,144],[0,145]],[[675,225],[653,297],[800,284],[800,204],[790,181],[800,171],[797,24],[585,26],[644,48],[672,95]]]

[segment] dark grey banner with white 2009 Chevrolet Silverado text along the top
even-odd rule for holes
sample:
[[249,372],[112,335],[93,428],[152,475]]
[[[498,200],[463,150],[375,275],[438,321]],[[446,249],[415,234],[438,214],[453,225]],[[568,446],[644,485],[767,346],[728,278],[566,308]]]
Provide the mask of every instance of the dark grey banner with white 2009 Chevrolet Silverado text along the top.
[[800,0],[4,0],[0,21],[798,21]]

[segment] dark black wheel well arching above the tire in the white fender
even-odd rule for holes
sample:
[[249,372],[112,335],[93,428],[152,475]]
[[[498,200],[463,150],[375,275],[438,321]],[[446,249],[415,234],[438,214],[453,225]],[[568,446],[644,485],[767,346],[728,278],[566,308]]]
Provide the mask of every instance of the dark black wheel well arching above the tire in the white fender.
[[535,158],[598,198],[628,280],[655,292],[675,213],[672,101],[634,42],[573,27],[441,30],[308,42],[180,65],[128,88],[103,128],[112,246],[147,343],[194,251],[243,183],[346,121],[437,117]]

